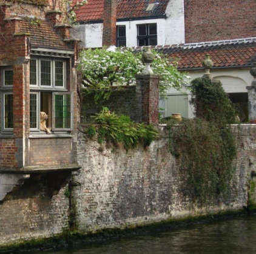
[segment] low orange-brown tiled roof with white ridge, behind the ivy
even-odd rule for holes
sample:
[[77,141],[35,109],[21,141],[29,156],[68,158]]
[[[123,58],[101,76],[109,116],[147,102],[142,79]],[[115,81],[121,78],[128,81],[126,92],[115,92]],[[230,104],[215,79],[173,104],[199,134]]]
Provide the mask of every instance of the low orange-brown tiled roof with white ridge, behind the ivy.
[[[139,47],[136,47],[138,49]],[[213,68],[248,67],[256,62],[256,37],[231,41],[201,42],[154,46],[168,57],[178,58],[178,69],[203,68],[206,54],[214,63]]]

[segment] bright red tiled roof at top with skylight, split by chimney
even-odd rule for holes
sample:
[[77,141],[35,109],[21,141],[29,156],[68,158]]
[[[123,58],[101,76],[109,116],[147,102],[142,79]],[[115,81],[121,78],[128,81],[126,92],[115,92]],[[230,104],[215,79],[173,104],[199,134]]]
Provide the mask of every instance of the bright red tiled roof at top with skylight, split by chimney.
[[[73,0],[76,2],[76,0]],[[155,4],[146,11],[149,4]],[[118,0],[116,18],[142,18],[165,15],[169,0]],[[77,21],[103,21],[104,0],[87,0],[87,3],[75,10]]]

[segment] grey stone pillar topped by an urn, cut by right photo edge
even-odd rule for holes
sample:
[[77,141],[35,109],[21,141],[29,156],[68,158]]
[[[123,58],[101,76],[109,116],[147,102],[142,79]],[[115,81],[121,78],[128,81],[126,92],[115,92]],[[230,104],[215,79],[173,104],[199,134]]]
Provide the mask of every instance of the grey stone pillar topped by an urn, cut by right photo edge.
[[248,90],[248,113],[251,123],[256,123],[256,62],[251,68],[250,73],[254,76],[251,86],[246,86]]

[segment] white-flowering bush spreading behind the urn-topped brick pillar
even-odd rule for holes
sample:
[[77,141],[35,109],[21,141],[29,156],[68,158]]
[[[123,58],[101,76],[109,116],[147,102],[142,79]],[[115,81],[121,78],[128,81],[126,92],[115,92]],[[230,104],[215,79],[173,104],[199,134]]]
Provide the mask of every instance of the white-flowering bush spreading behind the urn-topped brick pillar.
[[[132,48],[115,51],[106,49],[89,49],[81,52],[79,70],[83,73],[83,82],[87,91],[99,91],[99,97],[110,90],[110,86],[130,85],[135,82],[135,75],[144,70],[142,51]],[[164,97],[169,88],[181,88],[186,83],[186,74],[180,73],[175,65],[177,62],[163,54],[153,51],[155,60],[151,67],[155,74],[160,75],[160,96]],[[107,99],[106,96],[104,99]]]

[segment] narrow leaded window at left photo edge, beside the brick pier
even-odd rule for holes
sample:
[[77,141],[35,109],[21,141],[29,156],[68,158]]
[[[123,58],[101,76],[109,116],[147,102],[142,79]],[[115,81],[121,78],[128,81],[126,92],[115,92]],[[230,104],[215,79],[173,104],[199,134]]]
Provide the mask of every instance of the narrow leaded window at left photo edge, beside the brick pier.
[[2,108],[2,131],[13,131],[13,70],[2,68],[1,70],[1,108]]

